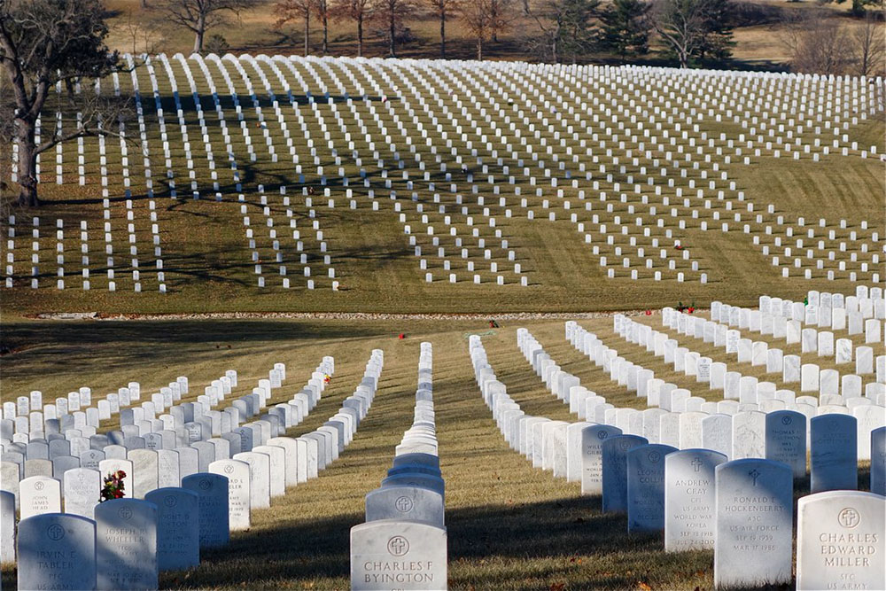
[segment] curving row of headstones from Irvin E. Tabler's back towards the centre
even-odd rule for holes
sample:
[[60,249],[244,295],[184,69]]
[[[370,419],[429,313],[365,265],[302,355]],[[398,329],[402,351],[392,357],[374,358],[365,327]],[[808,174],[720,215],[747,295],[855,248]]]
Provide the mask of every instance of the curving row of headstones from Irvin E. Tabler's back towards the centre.
[[[82,527],[77,525],[82,522],[92,523],[93,527],[98,526],[97,544],[93,549],[95,564],[91,574],[93,578],[97,577],[97,587],[96,583],[93,583],[92,586],[73,588],[156,587],[159,571],[196,566],[199,564],[199,548],[221,546],[227,543],[229,531],[248,529],[251,509],[269,506],[269,496],[271,492],[276,492],[277,483],[283,487],[295,485],[299,481],[299,475],[311,464],[314,470],[312,474],[306,476],[306,479],[315,478],[317,468],[322,470],[326,467],[327,460],[331,462],[337,456],[328,454],[327,447],[331,445],[333,450],[340,451],[350,443],[357,423],[369,410],[382,360],[381,351],[374,351],[357,392],[348,397],[341,411],[330,417],[330,421],[317,431],[299,439],[285,437],[268,439],[266,446],[253,447],[251,451],[234,455],[229,460],[215,461],[209,465],[206,473],[183,478],[184,488],[190,488],[202,496],[212,494],[216,497],[207,500],[211,502],[205,503],[202,497],[198,502],[197,495],[193,494],[191,494],[193,499],[182,498],[181,494],[186,491],[176,487],[165,487],[145,494],[145,501],[125,499],[100,503],[94,509],[95,522],[85,517],[78,517],[82,519],[81,522],[67,521],[71,528]],[[309,442],[314,445],[301,445]],[[311,459],[314,459],[313,463],[310,462]],[[213,489],[217,492],[207,493]],[[221,496],[224,496],[223,502]],[[120,505],[123,501],[128,502],[128,506]],[[43,504],[51,505],[51,502],[44,498]],[[112,506],[113,510],[105,510],[106,507]],[[42,588],[30,587],[30,583],[23,584],[23,581],[43,580],[43,577],[58,580],[65,576],[58,572],[65,570],[63,567],[51,565],[51,568],[47,568],[47,564],[33,560],[34,556],[29,554],[34,552],[33,544],[28,539],[33,530],[31,527],[33,520],[41,517],[70,517],[68,514],[58,514],[59,509],[60,507],[54,509],[55,512],[41,513],[36,517],[26,517],[19,523],[19,588]],[[178,515],[179,511],[187,512],[188,516]],[[14,515],[14,498],[11,493],[4,491],[4,533],[8,533],[9,538],[7,540],[4,536],[4,562],[6,562],[6,550],[12,546]],[[124,543],[121,549],[116,549],[121,556],[117,558],[104,556],[103,559],[103,552],[106,555],[109,551],[109,548],[103,548],[102,543],[105,541],[101,529],[103,518],[113,520],[115,515],[125,521],[123,525],[137,527],[139,533],[143,535],[122,540],[123,542],[137,540],[137,548],[128,547]],[[164,532],[165,525],[168,530],[166,532]],[[108,525],[109,528],[121,526],[117,522]],[[112,546],[114,541],[120,541],[113,535],[109,529],[106,539],[109,546]],[[22,536],[25,536],[24,540]],[[60,540],[57,534],[50,533],[48,537],[52,541]],[[82,540],[77,540],[76,543],[82,544]],[[88,560],[89,548],[84,547],[81,552],[82,554],[78,556],[85,555]],[[136,561],[132,560],[132,556],[139,558],[138,564],[135,564]],[[89,570],[89,564],[83,566]],[[51,572],[53,570],[56,572]]]

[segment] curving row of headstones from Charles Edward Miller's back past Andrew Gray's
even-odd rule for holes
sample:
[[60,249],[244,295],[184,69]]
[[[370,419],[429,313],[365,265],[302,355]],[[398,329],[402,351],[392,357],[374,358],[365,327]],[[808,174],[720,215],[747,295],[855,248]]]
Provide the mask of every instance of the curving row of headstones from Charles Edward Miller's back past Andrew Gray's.
[[[525,416],[509,400],[504,385],[494,379],[479,338],[472,339],[471,358],[484,399],[505,439],[530,457],[533,466],[553,470],[555,477],[580,479],[582,494],[602,495],[604,511],[627,513],[629,532],[663,531],[667,551],[713,548],[717,587],[791,581],[796,475],[789,465],[758,458],[728,462],[726,455],[709,449],[678,451],[667,445],[649,445],[647,439],[622,435],[610,425]],[[824,431],[830,437],[833,429],[826,427]],[[791,434],[788,442],[796,440]],[[839,490],[801,500],[798,588],[822,588],[825,580],[844,581],[847,577],[861,584],[873,583],[871,588],[882,585],[882,568],[870,559],[850,557],[859,547],[845,545],[850,538],[838,537],[862,522],[872,533],[882,530],[886,428],[872,434],[872,445],[881,450],[876,465],[872,463],[874,493]],[[840,478],[828,479],[834,488],[843,485]],[[757,490],[758,482],[765,490]],[[758,515],[762,512],[773,513],[773,518],[762,523]],[[824,512],[834,517],[822,524]],[[820,537],[823,532],[828,533],[825,538]],[[882,536],[867,540],[875,545],[865,546],[864,553],[882,553]],[[821,545],[822,541],[828,545]],[[747,564],[755,564],[755,568],[749,570]]]

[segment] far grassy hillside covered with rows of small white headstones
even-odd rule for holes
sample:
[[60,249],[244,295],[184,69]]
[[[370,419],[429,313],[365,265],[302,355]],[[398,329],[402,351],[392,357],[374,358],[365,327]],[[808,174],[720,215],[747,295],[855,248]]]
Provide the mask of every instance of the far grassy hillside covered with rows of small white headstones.
[[[626,309],[851,290],[851,273],[869,282],[881,270],[882,99],[874,86],[859,90],[858,80],[844,82],[835,113],[822,123],[813,121],[820,117],[813,103],[797,105],[796,86],[775,78],[760,91],[755,78],[630,68],[585,68],[576,76],[566,68],[453,62],[429,69],[408,61],[273,64],[206,61],[223,131],[198,62],[188,60],[187,68],[203,122],[185,65],[170,59],[167,70],[155,58],[167,144],[152,79],[140,66],[148,159],[139,158],[137,144],[116,138],[105,143],[105,164],[97,139],[87,139],[82,152],[66,144],[58,154],[64,183],[56,184],[52,154],[44,154],[44,205],[8,205],[17,221],[3,222],[4,278],[12,275],[13,285],[4,290],[4,312]],[[651,84],[662,85],[660,92],[650,96]],[[805,84],[813,102],[828,96],[823,82]],[[109,87],[105,81],[103,91]],[[308,98],[327,89],[339,96]],[[133,91],[128,74],[120,75],[120,92]],[[850,92],[865,93],[856,95],[860,107],[858,99],[850,105]],[[693,113],[696,101],[702,109]],[[56,108],[72,125],[74,113],[60,97],[46,116]],[[135,121],[127,129],[137,136]],[[801,217],[815,226],[805,244],[797,241],[807,232]],[[688,252],[675,250],[677,243]],[[794,253],[784,250],[790,246]],[[779,265],[771,261],[776,250],[784,250]],[[59,268],[64,290],[56,289]],[[32,279],[39,289],[31,289]]]

